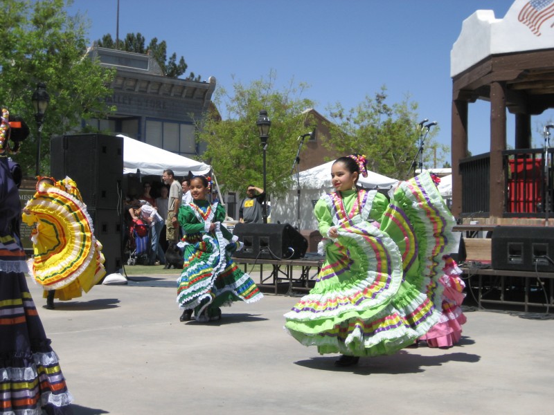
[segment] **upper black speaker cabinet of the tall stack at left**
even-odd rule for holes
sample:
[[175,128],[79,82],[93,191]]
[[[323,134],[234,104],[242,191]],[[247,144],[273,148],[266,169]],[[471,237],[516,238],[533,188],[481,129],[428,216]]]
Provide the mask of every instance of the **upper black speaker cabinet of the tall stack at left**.
[[123,138],[80,134],[57,136],[50,143],[54,178],[73,178],[89,209],[118,207],[123,181]]

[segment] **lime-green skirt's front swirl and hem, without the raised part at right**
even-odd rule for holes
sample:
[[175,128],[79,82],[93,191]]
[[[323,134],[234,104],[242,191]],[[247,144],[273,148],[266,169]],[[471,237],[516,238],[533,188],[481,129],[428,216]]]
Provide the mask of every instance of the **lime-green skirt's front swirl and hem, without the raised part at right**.
[[393,239],[362,219],[369,210],[338,223],[314,288],[285,314],[288,333],[319,353],[392,354],[438,322],[427,295],[402,280]]

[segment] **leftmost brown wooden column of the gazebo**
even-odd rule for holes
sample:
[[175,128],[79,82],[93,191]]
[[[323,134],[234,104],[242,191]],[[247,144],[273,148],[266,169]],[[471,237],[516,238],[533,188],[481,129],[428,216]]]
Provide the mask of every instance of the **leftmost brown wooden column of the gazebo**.
[[462,213],[460,159],[467,157],[467,101],[452,100],[452,214]]

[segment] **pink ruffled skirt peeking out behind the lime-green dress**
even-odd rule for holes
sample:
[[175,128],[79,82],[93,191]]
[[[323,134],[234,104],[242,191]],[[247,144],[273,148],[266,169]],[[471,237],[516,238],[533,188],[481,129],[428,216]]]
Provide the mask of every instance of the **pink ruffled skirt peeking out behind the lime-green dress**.
[[[460,275],[462,271],[458,268],[456,261],[449,255],[443,256],[445,267],[443,276],[438,282],[443,286],[442,310],[440,319],[426,335],[420,337],[425,340],[429,347],[452,347],[462,337],[462,324],[466,318],[462,312],[461,305],[465,298],[463,290],[465,284]],[[438,306],[438,304],[436,304]]]

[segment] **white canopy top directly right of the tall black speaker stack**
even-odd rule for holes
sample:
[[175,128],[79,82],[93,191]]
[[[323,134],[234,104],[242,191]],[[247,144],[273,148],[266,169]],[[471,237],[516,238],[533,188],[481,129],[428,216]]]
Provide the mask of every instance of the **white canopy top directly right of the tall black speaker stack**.
[[141,174],[142,176],[161,176],[163,170],[172,169],[175,176],[208,174],[211,166],[135,140],[123,134],[123,174]]

